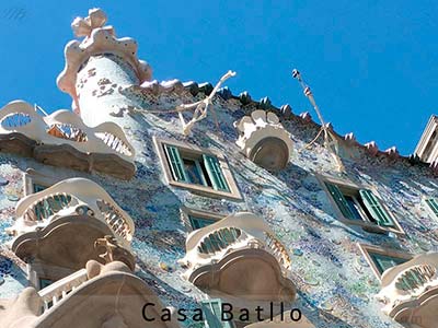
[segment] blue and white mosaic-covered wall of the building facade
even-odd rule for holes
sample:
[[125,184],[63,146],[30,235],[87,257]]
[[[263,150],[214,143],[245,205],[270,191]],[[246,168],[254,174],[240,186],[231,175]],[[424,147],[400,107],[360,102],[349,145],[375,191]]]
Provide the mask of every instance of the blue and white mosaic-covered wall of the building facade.
[[[92,69],[93,62],[99,63],[99,60],[90,61],[85,69]],[[249,161],[234,144],[238,131],[233,121],[256,109],[254,103],[242,105],[237,98],[216,96],[214,110],[218,125],[209,112],[206,119],[195,125],[192,134],[184,137],[180,119],[172,110],[178,104],[204,98],[204,93],[193,96],[188,89],[155,93],[151,89],[111,86],[114,81],[119,84],[135,79],[119,68],[115,73],[105,72],[105,69],[114,70],[107,62],[96,69],[95,79],[108,77],[107,89],[101,93],[83,91],[83,97],[95,104],[95,108],[89,106],[82,114],[90,122],[111,119],[124,128],[137,151],[136,176],[123,181],[96,174],[53,169],[31,159],[0,154],[0,179],[4,179],[0,187],[0,298],[12,297],[26,286],[25,265],[8,250],[11,237],[5,235],[4,229],[14,221],[16,201],[24,197],[23,173],[32,167],[42,172],[48,169],[55,177],[87,177],[105,188],[135,220],[132,249],[137,258],[136,274],[151,285],[166,305],[197,307],[197,302],[206,298],[203,292],[181,277],[183,269],[176,263],[185,255],[188,234],[180,209],[184,206],[222,214],[250,211],[262,216],[289,250],[292,260],[289,278],[298,288],[295,306],[315,327],[400,327],[381,314],[381,305],[373,298],[380,290],[380,282],[357,244],[413,254],[438,251],[438,221],[430,218],[422,206],[422,197],[437,196],[437,180],[429,168],[412,165],[405,159],[390,159],[383,154],[371,156],[361,147],[342,142],[339,154],[346,169],[339,174],[332,155],[321,144],[304,149],[319,126],[295,115],[286,119],[278,113],[284,127],[291,133],[293,153],[284,171],[272,174]],[[81,87],[97,85],[90,81]],[[111,89],[113,91],[108,92]],[[92,97],[101,101],[93,103]],[[112,110],[100,107],[104,106],[105,97],[116,99],[114,103],[107,101],[115,104]],[[126,103],[125,98],[128,99]],[[141,108],[141,113],[111,115],[112,112],[117,114],[126,104]],[[152,137],[221,151],[243,199],[215,199],[169,186]],[[316,174],[374,188],[406,235],[368,233],[359,226],[341,223]],[[203,327],[188,321],[184,325]]]

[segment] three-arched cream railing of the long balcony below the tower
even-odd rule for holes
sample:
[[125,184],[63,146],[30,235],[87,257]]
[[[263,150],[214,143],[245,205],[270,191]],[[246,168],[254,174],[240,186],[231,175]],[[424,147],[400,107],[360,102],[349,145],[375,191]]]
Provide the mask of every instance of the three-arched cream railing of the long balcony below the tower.
[[60,109],[39,116],[30,104],[15,101],[0,109],[0,134],[22,133],[43,144],[69,144],[82,153],[116,154],[134,163],[135,151],[120,127],[84,125],[74,113]]

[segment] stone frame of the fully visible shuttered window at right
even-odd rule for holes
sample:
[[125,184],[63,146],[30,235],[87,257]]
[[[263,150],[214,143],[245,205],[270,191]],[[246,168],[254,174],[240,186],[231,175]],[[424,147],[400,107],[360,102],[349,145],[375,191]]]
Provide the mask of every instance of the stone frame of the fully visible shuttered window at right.
[[[332,208],[334,209],[336,218],[339,222],[343,222],[345,224],[361,226],[362,230],[366,232],[371,232],[371,233],[389,233],[389,232],[391,232],[391,233],[395,233],[399,235],[405,235],[403,227],[400,225],[399,221],[396,220],[396,218],[392,213],[392,211],[390,211],[389,208],[387,207],[387,204],[381,200],[382,198],[380,197],[380,195],[376,188],[373,188],[371,186],[358,185],[350,180],[338,179],[338,178],[323,176],[323,175],[319,175],[319,174],[316,174],[315,176],[316,176],[316,179],[319,180],[322,189],[327,195],[327,197],[330,199],[330,203],[332,204]],[[370,221],[368,218],[366,220],[364,218],[362,218],[362,220],[351,220],[351,219],[344,216],[344,214],[341,211],[339,207],[337,206],[336,201],[333,199],[333,196],[330,192],[325,183],[336,185],[337,187],[341,187],[344,189],[351,189],[351,190],[357,190],[357,191],[359,191],[360,189],[368,189],[368,190],[372,191],[372,194],[379,200],[380,206],[391,218],[392,222],[394,223],[394,227],[378,225],[377,223],[373,223],[372,221]],[[365,210],[362,208],[361,208],[360,212],[364,212],[364,214],[366,214]],[[366,215],[366,216],[368,216],[368,215]]]

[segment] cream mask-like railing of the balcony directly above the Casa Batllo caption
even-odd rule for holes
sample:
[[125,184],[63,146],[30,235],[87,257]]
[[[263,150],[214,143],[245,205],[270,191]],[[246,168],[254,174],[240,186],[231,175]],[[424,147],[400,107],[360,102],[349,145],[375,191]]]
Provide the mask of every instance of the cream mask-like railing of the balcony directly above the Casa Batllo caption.
[[[284,273],[290,269],[291,260],[286,248],[263,219],[249,212],[229,215],[192,232],[186,241],[186,256],[180,262],[192,272],[219,261],[232,251],[249,248],[264,249],[273,255]],[[188,272],[186,276],[189,276]]]

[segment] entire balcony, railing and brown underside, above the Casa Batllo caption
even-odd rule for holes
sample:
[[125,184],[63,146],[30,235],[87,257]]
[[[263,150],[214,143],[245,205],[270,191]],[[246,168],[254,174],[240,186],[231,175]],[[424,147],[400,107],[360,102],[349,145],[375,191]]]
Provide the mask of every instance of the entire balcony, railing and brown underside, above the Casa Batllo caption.
[[240,212],[192,232],[180,263],[185,278],[227,300],[286,301],[296,296],[287,278],[290,257],[263,219]]

